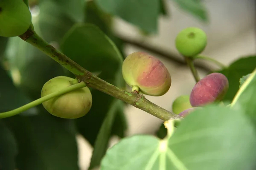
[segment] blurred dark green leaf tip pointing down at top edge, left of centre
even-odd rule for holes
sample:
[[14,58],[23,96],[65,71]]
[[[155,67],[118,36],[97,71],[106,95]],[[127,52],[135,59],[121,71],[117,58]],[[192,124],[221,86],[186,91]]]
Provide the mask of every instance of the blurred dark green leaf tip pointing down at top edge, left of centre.
[[85,0],[50,0],[61,8],[75,22],[82,22],[84,19]]

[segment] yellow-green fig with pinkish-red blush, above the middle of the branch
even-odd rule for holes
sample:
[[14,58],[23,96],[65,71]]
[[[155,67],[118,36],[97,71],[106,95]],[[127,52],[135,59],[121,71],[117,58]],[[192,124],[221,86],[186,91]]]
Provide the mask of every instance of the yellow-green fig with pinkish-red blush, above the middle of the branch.
[[166,94],[172,83],[163,63],[145,52],[128,55],[122,64],[122,75],[129,86],[138,86],[143,94],[151,96]]

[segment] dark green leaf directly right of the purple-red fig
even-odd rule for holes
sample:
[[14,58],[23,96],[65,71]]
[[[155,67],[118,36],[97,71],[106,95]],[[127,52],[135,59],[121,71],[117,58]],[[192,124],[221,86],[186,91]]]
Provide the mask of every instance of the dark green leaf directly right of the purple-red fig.
[[250,74],[256,68],[256,56],[243,57],[233,63],[227,69],[218,71],[224,74],[229,82],[229,89],[224,101],[232,101],[237,91],[239,90],[239,79],[247,74]]

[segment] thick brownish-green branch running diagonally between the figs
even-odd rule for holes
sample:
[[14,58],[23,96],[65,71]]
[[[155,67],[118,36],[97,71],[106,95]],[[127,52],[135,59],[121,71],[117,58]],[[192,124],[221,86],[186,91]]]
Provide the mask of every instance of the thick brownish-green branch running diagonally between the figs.
[[93,75],[90,71],[87,71],[85,68],[81,67],[72,59],[68,58],[48,42],[43,40],[38,34],[36,34],[34,30],[28,29],[19,37],[54,59],[68,71],[73,73],[79,81],[85,82],[88,87],[94,88],[105,94],[120,99],[123,102],[133,105],[134,107],[150,113],[151,115],[164,121],[180,118],[179,115],[167,111],[166,109],[150,102],[143,95],[137,93],[129,93]]

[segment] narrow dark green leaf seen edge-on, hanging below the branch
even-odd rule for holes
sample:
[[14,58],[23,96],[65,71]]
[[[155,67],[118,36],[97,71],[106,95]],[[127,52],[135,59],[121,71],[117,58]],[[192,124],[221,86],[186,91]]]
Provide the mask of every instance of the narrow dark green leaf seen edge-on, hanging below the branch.
[[89,169],[93,169],[100,164],[102,157],[105,155],[106,150],[108,149],[108,142],[111,137],[111,129],[113,127],[113,122],[117,116],[119,108],[123,109],[123,102],[119,99],[114,99],[99,130],[96,142],[94,144],[94,150]]

